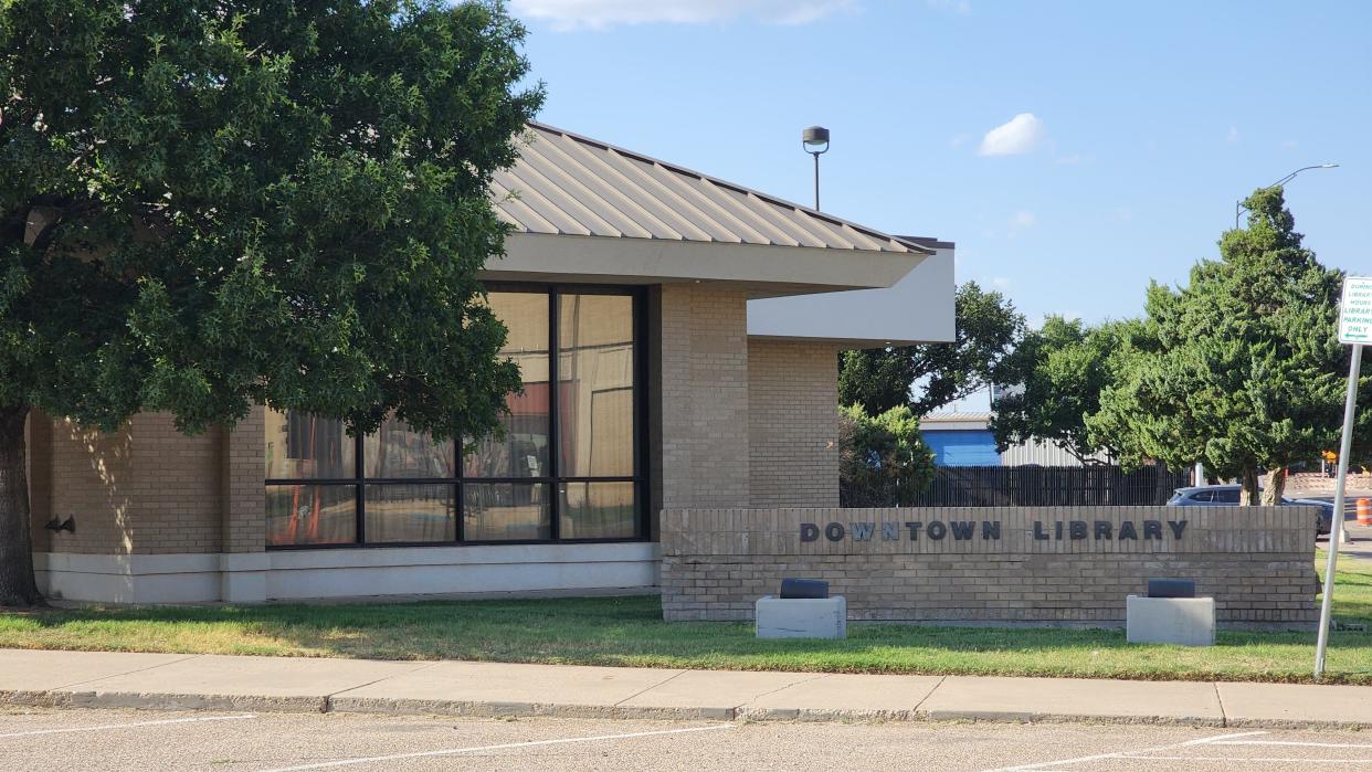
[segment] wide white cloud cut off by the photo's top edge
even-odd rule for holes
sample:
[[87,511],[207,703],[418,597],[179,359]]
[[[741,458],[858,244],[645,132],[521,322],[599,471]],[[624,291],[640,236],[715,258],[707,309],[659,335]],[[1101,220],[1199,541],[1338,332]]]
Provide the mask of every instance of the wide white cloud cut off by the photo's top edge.
[[749,18],[772,25],[804,25],[852,8],[858,0],[510,0],[523,19],[553,29],[605,29],[615,25],[701,25]]

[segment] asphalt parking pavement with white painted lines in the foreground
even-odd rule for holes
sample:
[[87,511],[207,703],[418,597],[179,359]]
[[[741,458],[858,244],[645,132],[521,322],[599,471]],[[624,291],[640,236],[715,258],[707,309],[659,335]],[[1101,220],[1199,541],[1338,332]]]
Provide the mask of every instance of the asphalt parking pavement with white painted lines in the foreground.
[[1372,736],[1217,727],[497,720],[4,708],[0,769],[1372,769]]

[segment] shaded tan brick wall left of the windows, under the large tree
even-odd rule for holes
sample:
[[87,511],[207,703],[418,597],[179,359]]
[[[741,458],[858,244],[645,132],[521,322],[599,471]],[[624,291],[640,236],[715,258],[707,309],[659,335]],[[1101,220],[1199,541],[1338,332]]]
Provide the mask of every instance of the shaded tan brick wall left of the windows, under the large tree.
[[215,428],[193,437],[165,413],[139,414],[113,433],[69,420],[49,426],[49,509],[62,520],[75,516],[77,524],[75,533],[51,536],[51,551],[263,548],[261,411],[235,432]]

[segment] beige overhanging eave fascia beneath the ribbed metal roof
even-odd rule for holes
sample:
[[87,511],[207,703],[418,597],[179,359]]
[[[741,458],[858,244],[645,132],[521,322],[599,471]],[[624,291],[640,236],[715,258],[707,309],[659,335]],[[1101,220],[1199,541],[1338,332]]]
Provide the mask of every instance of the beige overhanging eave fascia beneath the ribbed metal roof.
[[486,281],[598,284],[730,282],[755,298],[892,287],[929,255],[550,233],[510,233]]

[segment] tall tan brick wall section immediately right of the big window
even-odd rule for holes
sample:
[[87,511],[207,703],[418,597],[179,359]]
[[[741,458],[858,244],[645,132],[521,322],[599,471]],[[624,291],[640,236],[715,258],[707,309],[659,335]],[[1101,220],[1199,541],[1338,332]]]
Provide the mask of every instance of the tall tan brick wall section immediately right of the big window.
[[660,365],[650,380],[650,442],[661,448],[653,498],[663,507],[746,506],[748,296],[668,284],[650,307]]

